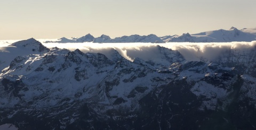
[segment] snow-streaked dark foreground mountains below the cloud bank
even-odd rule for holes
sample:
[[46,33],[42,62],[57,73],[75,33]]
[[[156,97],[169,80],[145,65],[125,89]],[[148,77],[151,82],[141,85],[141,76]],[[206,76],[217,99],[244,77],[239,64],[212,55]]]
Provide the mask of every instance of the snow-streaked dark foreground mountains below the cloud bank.
[[115,49],[108,58],[49,49],[35,39],[1,48],[1,123],[20,129],[254,129],[255,47],[201,61],[153,47],[157,58],[133,62]]

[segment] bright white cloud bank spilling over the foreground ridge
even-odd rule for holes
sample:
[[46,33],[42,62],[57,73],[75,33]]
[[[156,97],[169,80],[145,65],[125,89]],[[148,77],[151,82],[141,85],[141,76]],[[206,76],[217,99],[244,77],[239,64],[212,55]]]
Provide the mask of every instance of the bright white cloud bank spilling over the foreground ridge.
[[[48,39],[47,39],[48,40]],[[40,41],[40,40],[39,40]],[[41,41],[42,42],[42,41]],[[0,47],[10,45],[12,41],[0,41]],[[47,48],[58,47],[69,50],[80,49],[84,53],[101,53],[111,58],[109,52],[115,49],[124,58],[133,61],[139,57],[143,60],[156,60],[161,58],[160,51],[157,46],[178,50],[181,55],[189,61],[199,61],[201,59],[214,60],[222,53],[228,50],[236,50],[238,53],[251,51],[256,47],[256,41],[252,42],[218,42],[218,43],[190,43],[190,42],[170,42],[165,44],[151,43],[103,43],[97,44],[92,42],[85,43],[43,43]]]

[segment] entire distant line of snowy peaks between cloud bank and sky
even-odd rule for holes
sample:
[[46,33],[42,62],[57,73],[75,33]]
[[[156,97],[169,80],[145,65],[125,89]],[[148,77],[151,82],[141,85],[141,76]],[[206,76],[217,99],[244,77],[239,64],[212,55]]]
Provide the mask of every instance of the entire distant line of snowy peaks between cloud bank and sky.
[[148,36],[139,36],[137,34],[131,36],[123,36],[111,39],[109,36],[102,34],[98,38],[94,38],[90,33],[78,39],[60,38],[58,41],[47,42],[95,42],[95,43],[122,43],[122,42],[151,42],[151,43],[164,43],[164,42],[231,42],[231,41],[254,41],[256,40],[256,28],[238,30],[231,27],[229,30],[214,30],[200,32],[196,34],[183,33],[181,36],[164,36],[157,37],[155,34]]

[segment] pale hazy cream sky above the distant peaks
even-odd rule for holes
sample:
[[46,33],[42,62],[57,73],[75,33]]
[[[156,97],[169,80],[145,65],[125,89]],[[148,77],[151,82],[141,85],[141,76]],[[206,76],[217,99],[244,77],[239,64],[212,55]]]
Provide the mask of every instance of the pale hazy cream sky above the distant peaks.
[[1,0],[0,39],[166,36],[256,27],[256,0]]

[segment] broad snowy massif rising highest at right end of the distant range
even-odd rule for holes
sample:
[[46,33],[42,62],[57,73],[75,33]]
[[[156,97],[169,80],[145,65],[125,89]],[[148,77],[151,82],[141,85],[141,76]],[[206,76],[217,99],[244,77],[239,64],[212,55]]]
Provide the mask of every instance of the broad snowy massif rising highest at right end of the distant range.
[[[163,37],[164,38],[164,37]],[[196,34],[183,33],[181,36],[171,37],[166,42],[231,42],[256,40],[255,29],[238,30],[231,27],[229,30],[214,30]]]

